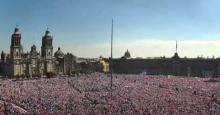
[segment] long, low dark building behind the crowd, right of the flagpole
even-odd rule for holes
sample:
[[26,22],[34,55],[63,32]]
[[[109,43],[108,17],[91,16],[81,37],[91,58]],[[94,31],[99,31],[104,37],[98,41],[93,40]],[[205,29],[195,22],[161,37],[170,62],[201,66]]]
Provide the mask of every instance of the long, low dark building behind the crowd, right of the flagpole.
[[[104,60],[110,62],[109,59]],[[177,52],[171,58],[131,58],[128,50],[121,58],[113,59],[114,73],[140,74],[142,71],[147,71],[149,75],[191,77],[204,77],[204,72],[209,71],[213,77],[220,77],[220,59],[180,58]]]

